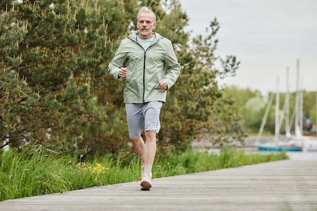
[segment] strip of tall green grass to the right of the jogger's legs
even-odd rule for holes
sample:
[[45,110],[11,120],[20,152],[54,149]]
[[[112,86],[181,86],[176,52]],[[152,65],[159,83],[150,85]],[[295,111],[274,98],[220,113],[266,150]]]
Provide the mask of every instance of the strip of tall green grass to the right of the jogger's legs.
[[152,171],[153,176],[159,178],[283,159],[288,159],[286,152],[246,152],[230,147],[214,152],[190,150],[182,154],[168,153],[164,157],[159,155],[153,164]]

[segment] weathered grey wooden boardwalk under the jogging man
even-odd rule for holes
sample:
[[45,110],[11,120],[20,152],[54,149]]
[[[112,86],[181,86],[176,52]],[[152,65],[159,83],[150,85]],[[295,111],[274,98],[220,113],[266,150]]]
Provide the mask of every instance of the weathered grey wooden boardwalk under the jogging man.
[[317,210],[317,153],[290,160],[0,201],[0,210]]

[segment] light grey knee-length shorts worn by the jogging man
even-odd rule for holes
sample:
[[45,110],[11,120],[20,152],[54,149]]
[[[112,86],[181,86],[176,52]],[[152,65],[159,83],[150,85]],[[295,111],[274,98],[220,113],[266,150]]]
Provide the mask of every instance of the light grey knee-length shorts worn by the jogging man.
[[126,103],[130,139],[138,138],[143,130],[159,133],[162,104],[161,101]]

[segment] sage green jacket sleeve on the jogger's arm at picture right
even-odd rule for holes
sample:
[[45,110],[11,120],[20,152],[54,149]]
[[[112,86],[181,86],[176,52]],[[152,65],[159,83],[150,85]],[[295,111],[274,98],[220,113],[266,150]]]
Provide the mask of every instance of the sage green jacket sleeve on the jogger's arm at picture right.
[[168,45],[166,48],[166,56],[165,56],[165,64],[167,66],[167,74],[163,78],[163,80],[166,81],[168,89],[170,89],[174,83],[176,82],[176,79],[178,78],[180,74],[180,64],[177,62],[177,58],[173,49],[172,42],[168,40]]

